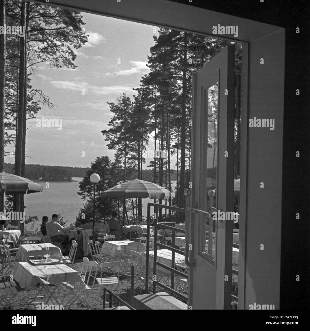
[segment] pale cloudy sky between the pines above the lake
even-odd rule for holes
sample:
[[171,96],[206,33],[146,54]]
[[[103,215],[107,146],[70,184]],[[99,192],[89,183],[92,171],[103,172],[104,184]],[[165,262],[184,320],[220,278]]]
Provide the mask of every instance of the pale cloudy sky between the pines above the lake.
[[[115,151],[108,150],[100,132],[109,129],[113,116],[106,102],[116,102],[123,92],[132,97],[132,88],[139,87],[149,72],[146,64],[155,26],[82,16],[89,38],[76,50],[77,68],[51,69],[43,62],[31,76],[32,87],[42,89],[55,107],[41,106],[37,118],[27,121],[26,164],[90,167],[99,156],[113,160]],[[37,127],[36,119],[42,117],[59,119],[59,124],[61,119],[61,130]],[[6,147],[6,152],[14,150],[13,145]],[[14,157],[6,156],[5,162],[14,163]]]

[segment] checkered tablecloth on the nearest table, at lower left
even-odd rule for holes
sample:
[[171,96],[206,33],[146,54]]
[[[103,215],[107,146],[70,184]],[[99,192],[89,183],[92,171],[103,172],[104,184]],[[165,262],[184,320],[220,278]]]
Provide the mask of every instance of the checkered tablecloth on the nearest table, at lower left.
[[13,268],[14,280],[26,289],[35,287],[37,283],[43,285],[68,282],[84,284],[78,271],[65,264],[32,265],[29,262],[18,262]]

